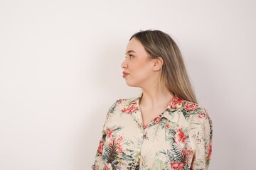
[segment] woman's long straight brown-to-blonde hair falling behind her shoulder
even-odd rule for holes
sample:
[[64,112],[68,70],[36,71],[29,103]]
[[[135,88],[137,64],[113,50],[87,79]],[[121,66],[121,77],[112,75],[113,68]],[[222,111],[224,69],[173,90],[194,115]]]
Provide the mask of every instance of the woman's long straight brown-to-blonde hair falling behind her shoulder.
[[186,67],[178,45],[161,30],[144,30],[132,35],[144,46],[149,57],[161,57],[164,64],[161,68],[160,84],[164,84],[171,94],[186,101],[197,103],[196,95],[186,72]]

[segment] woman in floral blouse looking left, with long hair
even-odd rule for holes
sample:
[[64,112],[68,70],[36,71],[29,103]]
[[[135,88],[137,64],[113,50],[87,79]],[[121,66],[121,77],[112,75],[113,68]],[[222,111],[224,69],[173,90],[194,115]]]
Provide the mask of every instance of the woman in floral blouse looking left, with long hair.
[[135,33],[122,69],[142,94],[108,111],[92,169],[208,169],[212,123],[174,40],[160,30]]

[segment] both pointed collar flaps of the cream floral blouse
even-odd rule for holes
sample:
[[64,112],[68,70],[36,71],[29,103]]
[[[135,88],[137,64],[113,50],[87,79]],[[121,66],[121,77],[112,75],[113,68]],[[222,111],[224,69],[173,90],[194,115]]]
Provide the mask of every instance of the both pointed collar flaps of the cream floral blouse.
[[[129,103],[122,109],[123,113],[132,114],[138,123],[142,123],[142,115],[139,109],[139,99],[142,98],[142,94],[136,96],[129,101]],[[171,98],[166,110],[162,117],[170,120],[171,122],[178,123],[179,113],[181,111],[183,99],[175,95]]]

